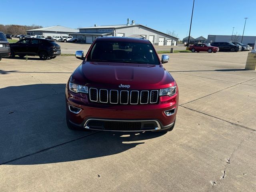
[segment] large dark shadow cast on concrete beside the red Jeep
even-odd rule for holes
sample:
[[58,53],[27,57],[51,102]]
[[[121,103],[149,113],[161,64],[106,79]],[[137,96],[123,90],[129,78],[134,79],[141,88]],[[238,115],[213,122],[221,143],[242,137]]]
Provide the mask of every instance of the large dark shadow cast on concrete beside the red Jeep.
[[65,84],[0,89],[0,164],[47,164],[118,154],[165,132],[85,132],[66,126]]

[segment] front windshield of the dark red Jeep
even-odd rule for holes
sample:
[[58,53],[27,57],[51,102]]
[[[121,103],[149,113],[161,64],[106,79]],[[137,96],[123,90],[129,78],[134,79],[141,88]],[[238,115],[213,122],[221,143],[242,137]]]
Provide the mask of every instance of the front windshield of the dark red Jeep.
[[134,42],[96,42],[87,61],[120,62],[159,65],[159,59],[151,44]]

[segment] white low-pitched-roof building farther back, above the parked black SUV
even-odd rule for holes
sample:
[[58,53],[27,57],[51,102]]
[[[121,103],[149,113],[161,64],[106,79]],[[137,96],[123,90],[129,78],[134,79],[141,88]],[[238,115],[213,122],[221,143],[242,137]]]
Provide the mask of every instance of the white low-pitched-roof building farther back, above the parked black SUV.
[[68,36],[69,33],[77,33],[78,29],[72,29],[64,26],[51,26],[39,29],[27,30],[28,35],[42,35],[42,36]]

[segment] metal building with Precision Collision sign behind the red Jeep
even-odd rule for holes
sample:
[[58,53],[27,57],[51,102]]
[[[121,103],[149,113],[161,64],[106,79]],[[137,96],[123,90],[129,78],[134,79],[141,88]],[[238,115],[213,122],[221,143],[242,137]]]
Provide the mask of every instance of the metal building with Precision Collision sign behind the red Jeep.
[[76,37],[80,42],[92,43],[94,39],[102,36],[118,36],[118,37],[135,37],[145,38],[150,40],[153,45],[176,45],[178,38],[165,34],[163,32],[154,30],[141,24],[135,24],[134,21],[124,25],[106,25],[79,28],[79,33],[70,33],[71,36]]

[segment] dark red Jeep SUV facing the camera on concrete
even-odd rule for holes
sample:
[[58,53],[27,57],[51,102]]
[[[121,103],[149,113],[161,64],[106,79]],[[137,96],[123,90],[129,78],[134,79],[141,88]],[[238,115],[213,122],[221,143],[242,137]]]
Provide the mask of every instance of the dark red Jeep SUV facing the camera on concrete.
[[99,37],[66,84],[68,128],[108,131],[170,131],[178,86],[148,40]]

